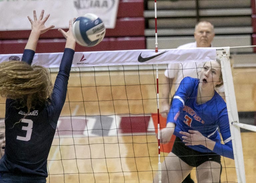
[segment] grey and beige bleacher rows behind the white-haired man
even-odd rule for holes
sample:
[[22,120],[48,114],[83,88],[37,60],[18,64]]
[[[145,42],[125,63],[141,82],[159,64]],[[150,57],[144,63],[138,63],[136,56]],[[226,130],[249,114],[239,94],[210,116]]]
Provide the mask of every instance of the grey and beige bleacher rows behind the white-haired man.
[[[252,0],[253,1],[253,0]],[[255,1],[254,1],[255,3]],[[199,20],[213,23],[215,47],[251,46],[251,0],[159,0],[157,1],[157,35],[159,49],[172,49],[194,41],[194,26]],[[198,8],[198,9],[197,9]],[[144,11],[147,48],[155,47],[154,0],[148,0]],[[231,53],[253,53],[253,47],[232,48]]]

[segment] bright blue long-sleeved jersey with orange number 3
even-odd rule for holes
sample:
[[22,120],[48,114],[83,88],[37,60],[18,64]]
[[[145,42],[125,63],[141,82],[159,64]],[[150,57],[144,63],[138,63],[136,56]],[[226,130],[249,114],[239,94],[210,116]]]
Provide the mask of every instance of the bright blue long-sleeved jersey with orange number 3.
[[[180,131],[197,130],[203,136],[216,142],[213,152],[234,159],[227,105],[222,97],[215,91],[211,100],[197,104],[197,91],[199,79],[185,77],[176,91],[167,123],[175,123],[174,135],[182,139]],[[177,120],[175,115],[180,112]],[[221,144],[221,136],[225,145]],[[203,145],[188,146],[199,152],[212,152]]]

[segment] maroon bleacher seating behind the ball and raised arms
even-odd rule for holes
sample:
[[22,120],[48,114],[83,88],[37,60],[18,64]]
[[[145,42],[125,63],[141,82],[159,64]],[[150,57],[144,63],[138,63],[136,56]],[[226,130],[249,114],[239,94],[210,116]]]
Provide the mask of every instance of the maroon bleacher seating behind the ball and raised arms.
[[[77,44],[76,51],[110,51],[145,49],[143,0],[120,0],[114,29],[107,29],[103,41],[94,47]],[[0,54],[23,53],[30,30],[0,31]],[[57,29],[40,36],[37,53],[62,52],[65,39]]]

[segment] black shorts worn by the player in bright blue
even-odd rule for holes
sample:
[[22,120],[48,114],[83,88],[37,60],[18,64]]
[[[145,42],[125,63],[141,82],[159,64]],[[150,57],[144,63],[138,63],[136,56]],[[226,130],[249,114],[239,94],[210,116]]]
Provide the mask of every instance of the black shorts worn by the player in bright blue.
[[220,155],[213,152],[203,153],[195,151],[186,146],[178,137],[175,138],[172,147],[172,153],[178,156],[182,161],[193,167],[198,167],[199,165],[206,161],[215,161],[221,164]]

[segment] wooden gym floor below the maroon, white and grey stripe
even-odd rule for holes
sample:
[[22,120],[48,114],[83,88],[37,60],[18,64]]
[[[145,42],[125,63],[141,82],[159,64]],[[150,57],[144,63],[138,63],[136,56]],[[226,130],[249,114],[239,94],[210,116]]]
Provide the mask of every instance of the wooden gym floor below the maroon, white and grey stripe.
[[[246,182],[254,183],[256,179],[254,173],[256,146],[250,142],[256,141],[256,133],[243,132],[241,137]],[[116,143],[117,141],[119,144]],[[56,160],[48,162],[50,176],[47,178],[47,182],[148,183],[152,182],[153,176],[156,174],[154,171],[158,169],[155,135],[104,137],[105,144],[103,144],[102,137],[56,138],[53,145],[57,145],[59,142],[62,145],[74,144],[74,142],[75,144],[88,144],[90,142],[91,145],[62,146],[61,150],[59,146],[52,146],[49,159]],[[163,156],[164,154],[161,153],[161,161]],[[221,182],[237,182],[234,160],[222,157],[221,161],[223,166]],[[63,176],[63,170],[65,176]],[[191,177],[196,180],[195,170],[192,171]]]

